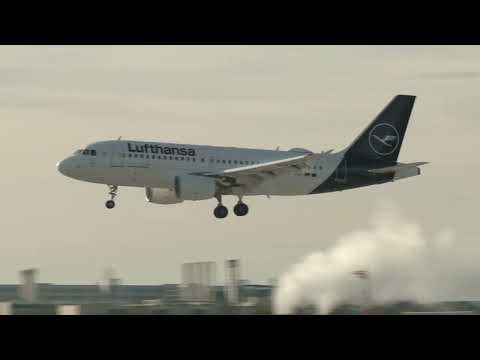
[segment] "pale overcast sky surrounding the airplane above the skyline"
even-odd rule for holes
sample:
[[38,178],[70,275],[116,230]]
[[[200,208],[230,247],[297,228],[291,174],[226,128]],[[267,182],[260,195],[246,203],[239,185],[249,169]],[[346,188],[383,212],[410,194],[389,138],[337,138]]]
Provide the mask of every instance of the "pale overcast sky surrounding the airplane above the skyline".
[[[388,201],[434,233],[478,239],[480,47],[1,46],[0,283],[180,281],[189,261],[238,258],[266,283],[367,223]],[[305,197],[246,198],[244,218],[216,200],[153,205],[58,173],[85,145],[137,140],[312,151],[347,146],[396,94],[417,95],[400,161],[422,176]],[[236,202],[226,198],[231,207]],[[479,248],[480,249],[480,248]]]

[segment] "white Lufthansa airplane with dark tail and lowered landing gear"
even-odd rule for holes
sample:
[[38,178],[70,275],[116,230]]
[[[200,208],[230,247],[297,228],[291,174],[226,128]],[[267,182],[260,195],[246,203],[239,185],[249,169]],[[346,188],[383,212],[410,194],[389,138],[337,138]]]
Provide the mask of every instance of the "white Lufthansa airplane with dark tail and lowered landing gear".
[[105,184],[115,207],[120,186],[145,188],[153,204],[216,198],[216,218],[227,217],[222,197],[238,197],[233,212],[247,215],[244,197],[313,195],[379,185],[420,175],[427,162],[397,162],[416,96],[397,95],[345,149],[314,153],[174,144],[99,141],[57,163],[65,176]]

